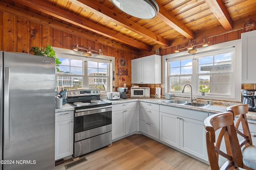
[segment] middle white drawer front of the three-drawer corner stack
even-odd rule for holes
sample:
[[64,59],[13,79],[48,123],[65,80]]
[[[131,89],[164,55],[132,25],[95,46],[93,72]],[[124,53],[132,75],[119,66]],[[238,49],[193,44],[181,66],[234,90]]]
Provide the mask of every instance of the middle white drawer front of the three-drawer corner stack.
[[159,111],[140,107],[140,120],[159,125]]

